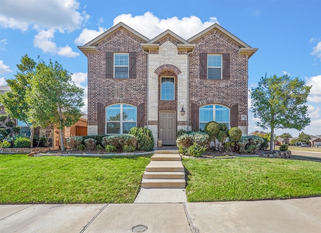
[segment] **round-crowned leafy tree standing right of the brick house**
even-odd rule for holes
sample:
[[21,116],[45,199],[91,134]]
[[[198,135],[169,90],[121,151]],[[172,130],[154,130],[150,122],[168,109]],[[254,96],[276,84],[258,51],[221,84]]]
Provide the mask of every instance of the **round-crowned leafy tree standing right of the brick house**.
[[288,75],[261,77],[258,87],[252,88],[251,111],[260,119],[256,125],[263,129],[270,128],[270,150],[273,150],[275,129],[302,130],[310,123],[307,116],[307,96],[311,86],[306,86],[298,77]]

